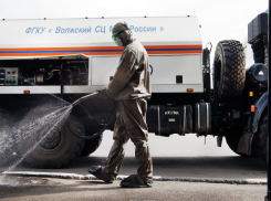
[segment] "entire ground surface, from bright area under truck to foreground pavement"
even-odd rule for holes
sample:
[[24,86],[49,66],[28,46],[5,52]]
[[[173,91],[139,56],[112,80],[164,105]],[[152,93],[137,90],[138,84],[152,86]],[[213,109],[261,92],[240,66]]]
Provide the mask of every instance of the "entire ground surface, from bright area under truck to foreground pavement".
[[[105,162],[112,145],[112,133],[96,152],[79,158],[63,169],[32,169],[19,165],[14,172],[58,172],[87,174],[87,169]],[[265,163],[258,158],[233,154],[226,141],[221,148],[216,138],[174,135],[169,138],[149,135],[154,176],[169,178],[267,179]],[[125,147],[126,156],[121,176],[136,172],[134,146]],[[6,167],[0,167],[1,172]],[[206,182],[155,181],[152,189],[122,189],[119,181],[104,184],[98,180],[8,177],[0,184],[0,200],[263,200],[265,184],[222,184]]]

